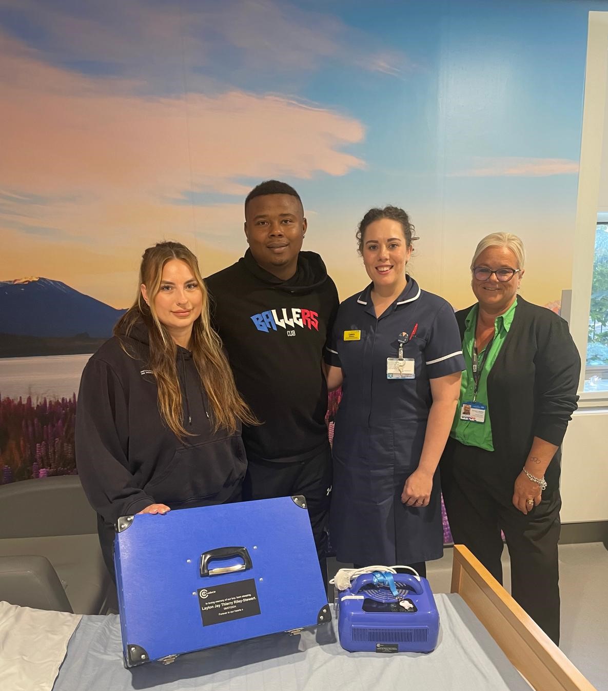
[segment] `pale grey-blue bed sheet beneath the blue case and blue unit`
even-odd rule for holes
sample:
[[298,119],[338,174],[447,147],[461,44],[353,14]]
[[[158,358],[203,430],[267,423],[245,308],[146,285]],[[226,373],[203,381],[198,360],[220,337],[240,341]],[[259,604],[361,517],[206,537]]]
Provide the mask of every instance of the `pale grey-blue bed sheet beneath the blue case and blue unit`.
[[118,616],[83,616],[53,691],[530,690],[459,595],[435,600],[441,630],[429,654],[346,652],[334,620],[301,634],[240,641],[131,670],[122,664]]

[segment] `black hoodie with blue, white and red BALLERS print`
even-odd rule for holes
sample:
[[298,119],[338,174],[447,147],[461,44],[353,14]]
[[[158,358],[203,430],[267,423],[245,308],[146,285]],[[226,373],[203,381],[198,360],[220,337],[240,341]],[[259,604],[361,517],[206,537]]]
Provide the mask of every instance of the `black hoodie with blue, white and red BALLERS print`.
[[247,249],[205,282],[236,386],[263,422],[243,428],[247,457],[307,460],[327,444],[321,361],[339,305],[321,257],[300,252],[296,273],[281,281]]

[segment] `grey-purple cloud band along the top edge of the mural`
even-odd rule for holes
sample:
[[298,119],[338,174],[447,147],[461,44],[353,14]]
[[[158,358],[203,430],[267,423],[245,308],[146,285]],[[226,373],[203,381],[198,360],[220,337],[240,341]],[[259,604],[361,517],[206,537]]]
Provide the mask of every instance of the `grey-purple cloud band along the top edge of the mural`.
[[57,64],[145,76],[169,89],[176,75],[178,88],[182,86],[184,70],[197,82],[209,68],[220,75],[222,66],[228,68],[226,75],[246,73],[250,79],[320,70],[327,61],[392,76],[412,68],[405,53],[386,51],[373,33],[349,26],[330,12],[285,0],[164,5],[105,0],[64,8],[44,0],[4,3],[15,12],[28,12],[30,26],[44,28],[49,59],[61,55]]

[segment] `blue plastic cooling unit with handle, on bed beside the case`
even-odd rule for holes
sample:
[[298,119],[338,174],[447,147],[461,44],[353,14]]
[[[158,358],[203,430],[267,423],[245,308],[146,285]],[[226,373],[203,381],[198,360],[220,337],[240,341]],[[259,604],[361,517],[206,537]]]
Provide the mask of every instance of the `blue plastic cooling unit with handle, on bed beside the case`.
[[345,650],[431,652],[439,636],[439,612],[426,578],[394,574],[397,596],[378,575],[357,576],[338,593],[338,633]]

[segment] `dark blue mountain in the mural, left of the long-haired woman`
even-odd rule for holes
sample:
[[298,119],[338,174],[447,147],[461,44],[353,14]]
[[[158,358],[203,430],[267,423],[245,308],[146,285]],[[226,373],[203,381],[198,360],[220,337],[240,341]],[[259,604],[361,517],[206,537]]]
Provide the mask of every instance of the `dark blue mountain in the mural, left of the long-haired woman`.
[[19,337],[107,339],[126,310],[49,278],[0,281],[0,333]]

